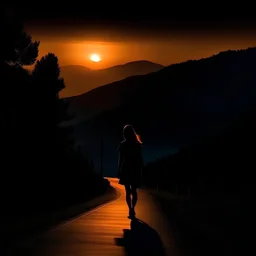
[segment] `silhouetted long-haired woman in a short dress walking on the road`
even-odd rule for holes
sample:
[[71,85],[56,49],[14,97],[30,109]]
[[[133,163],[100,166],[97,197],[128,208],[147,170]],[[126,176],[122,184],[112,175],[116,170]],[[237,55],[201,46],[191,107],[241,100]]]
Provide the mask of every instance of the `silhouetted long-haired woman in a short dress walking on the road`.
[[118,147],[118,177],[119,184],[124,185],[126,202],[129,208],[128,218],[135,217],[135,206],[138,200],[137,188],[142,176],[142,142],[131,125],[123,128],[124,140]]

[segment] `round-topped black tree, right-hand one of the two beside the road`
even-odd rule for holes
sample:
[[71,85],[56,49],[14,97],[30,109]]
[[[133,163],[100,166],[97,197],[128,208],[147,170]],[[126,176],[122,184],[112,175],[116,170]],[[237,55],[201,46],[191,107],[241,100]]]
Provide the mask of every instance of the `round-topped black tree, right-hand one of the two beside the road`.
[[[73,128],[62,125],[63,121],[71,117],[67,113],[68,101],[59,97],[59,92],[65,88],[65,83],[60,77],[57,56],[53,53],[43,56],[36,62],[32,76],[35,88],[38,90],[35,103],[36,108],[39,109],[37,112],[40,113],[37,125],[40,129],[38,137],[44,134],[40,141],[45,148],[41,154],[46,163],[42,176],[45,178],[48,191],[51,190],[50,188],[54,191],[51,197],[54,194],[58,200],[67,200],[72,193],[76,193],[75,191],[84,189],[84,179],[86,175],[92,175],[92,172],[87,159],[79,151]],[[52,163],[55,164],[54,167]],[[49,166],[53,167],[54,171]],[[67,187],[72,188],[72,193],[66,189]]]

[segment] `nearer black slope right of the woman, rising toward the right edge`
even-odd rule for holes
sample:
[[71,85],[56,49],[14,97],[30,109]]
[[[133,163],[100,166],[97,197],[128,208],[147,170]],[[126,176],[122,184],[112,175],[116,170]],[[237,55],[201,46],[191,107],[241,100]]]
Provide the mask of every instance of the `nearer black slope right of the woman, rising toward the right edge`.
[[[175,193],[251,195],[256,168],[256,102],[249,104],[230,125],[214,136],[198,140],[179,152],[144,167],[144,181],[158,182],[162,189]],[[207,167],[207,168],[206,168]],[[253,184],[253,186],[252,186]]]

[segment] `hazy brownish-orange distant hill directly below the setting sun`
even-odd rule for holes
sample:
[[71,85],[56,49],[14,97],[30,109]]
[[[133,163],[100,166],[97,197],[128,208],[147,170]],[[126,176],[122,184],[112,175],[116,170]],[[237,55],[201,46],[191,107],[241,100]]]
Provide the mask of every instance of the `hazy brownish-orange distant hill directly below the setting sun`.
[[66,98],[79,95],[101,85],[122,80],[129,76],[155,72],[163,67],[160,64],[144,60],[99,70],[78,65],[62,66],[61,76],[65,79],[66,88],[60,96]]

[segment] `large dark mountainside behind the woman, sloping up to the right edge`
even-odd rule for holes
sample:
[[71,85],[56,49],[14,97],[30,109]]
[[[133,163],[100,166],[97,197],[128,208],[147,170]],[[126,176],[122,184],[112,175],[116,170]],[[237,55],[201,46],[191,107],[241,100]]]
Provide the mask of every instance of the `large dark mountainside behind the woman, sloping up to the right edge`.
[[141,133],[146,162],[175,153],[222,131],[256,102],[255,68],[256,48],[226,51],[72,97],[77,137],[95,165],[104,139],[107,175],[116,169],[116,148],[126,123]]

